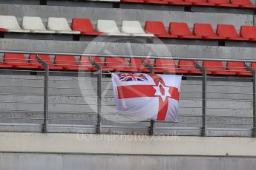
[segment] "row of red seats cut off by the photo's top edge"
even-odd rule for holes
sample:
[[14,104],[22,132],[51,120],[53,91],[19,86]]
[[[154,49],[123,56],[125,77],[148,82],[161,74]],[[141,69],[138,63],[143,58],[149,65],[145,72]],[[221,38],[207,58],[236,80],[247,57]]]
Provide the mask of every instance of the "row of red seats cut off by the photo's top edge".
[[256,8],[250,0],[121,0],[129,3]]

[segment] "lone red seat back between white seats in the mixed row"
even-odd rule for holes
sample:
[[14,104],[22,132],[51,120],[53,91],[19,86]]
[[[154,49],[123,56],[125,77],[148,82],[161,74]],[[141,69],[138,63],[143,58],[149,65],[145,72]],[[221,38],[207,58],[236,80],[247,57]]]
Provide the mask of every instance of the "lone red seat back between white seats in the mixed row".
[[71,28],[81,32],[96,32],[91,20],[87,18],[73,18]]

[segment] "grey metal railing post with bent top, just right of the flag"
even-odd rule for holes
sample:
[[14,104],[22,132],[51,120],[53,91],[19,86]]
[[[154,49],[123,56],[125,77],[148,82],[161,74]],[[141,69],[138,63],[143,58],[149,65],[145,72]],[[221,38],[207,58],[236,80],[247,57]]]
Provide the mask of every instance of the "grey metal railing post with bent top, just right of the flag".
[[201,67],[199,64],[197,64],[196,61],[194,61],[195,67],[197,69],[200,69],[200,71],[203,73],[203,79],[202,79],[202,136],[206,136],[206,130],[207,130],[207,72],[203,67]]

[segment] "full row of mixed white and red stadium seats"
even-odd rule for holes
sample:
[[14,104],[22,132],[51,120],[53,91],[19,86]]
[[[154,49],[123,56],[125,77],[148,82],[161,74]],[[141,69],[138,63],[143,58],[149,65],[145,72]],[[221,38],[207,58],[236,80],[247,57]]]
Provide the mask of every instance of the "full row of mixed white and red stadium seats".
[[242,25],[239,34],[231,24],[217,24],[216,30],[215,32],[211,24],[194,24],[191,31],[188,24],[183,22],[171,22],[166,30],[161,21],[146,21],[145,30],[139,21],[122,21],[122,27],[119,29],[114,20],[98,20],[94,28],[91,20],[87,18],[73,18],[70,27],[66,18],[53,17],[48,18],[45,27],[42,18],[27,16],[23,17],[20,27],[15,16],[0,16],[1,32],[256,41],[256,26]]

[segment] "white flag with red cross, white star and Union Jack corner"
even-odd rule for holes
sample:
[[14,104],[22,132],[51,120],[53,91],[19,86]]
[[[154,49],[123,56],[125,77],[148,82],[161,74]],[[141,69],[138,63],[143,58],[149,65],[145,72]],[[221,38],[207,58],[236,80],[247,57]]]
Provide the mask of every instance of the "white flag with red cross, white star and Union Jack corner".
[[177,122],[181,75],[112,73],[116,109],[133,120]]

